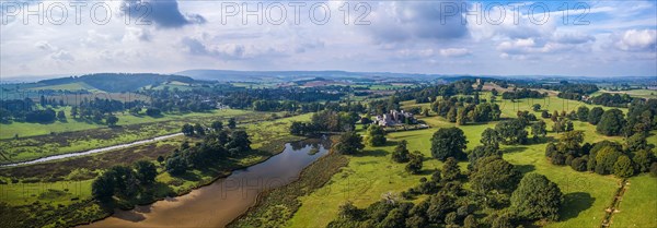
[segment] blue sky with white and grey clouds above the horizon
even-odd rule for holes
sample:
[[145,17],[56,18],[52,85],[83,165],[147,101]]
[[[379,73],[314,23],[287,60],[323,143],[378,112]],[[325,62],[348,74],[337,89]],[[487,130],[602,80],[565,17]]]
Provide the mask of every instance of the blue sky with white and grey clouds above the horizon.
[[0,1],[0,76],[657,76],[656,1]]

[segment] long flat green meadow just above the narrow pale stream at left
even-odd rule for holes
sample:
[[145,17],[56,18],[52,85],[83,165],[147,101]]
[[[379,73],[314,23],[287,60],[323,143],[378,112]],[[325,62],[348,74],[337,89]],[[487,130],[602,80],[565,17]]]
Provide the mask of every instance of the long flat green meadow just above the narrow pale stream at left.
[[[165,116],[162,118],[139,118],[130,116],[129,118],[124,119],[123,124],[119,120],[119,125],[115,128],[84,123],[85,125],[82,125],[81,128],[89,127],[91,129],[65,131],[62,133],[43,134],[31,137],[19,137],[19,140],[0,140],[0,148],[3,149],[3,155],[11,159],[11,161],[2,160],[0,164],[32,160],[50,155],[82,152],[99,147],[130,143],[154,136],[177,133],[184,123],[200,122],[209,124],[211,121],[218,119],[226,122],[232,117],[234,117],[238,122],[250,122],[266,119],[269,117],[269,115],[244,110],[216,110],[207,113]],[[58,122],[53,124],[54,125],[50,128],[62,130],[62,128],[69,123]],[[12,128],[20,127],[21,124]],[[16,129],[14,131],[23,130],[28,131],[30,127]]]

